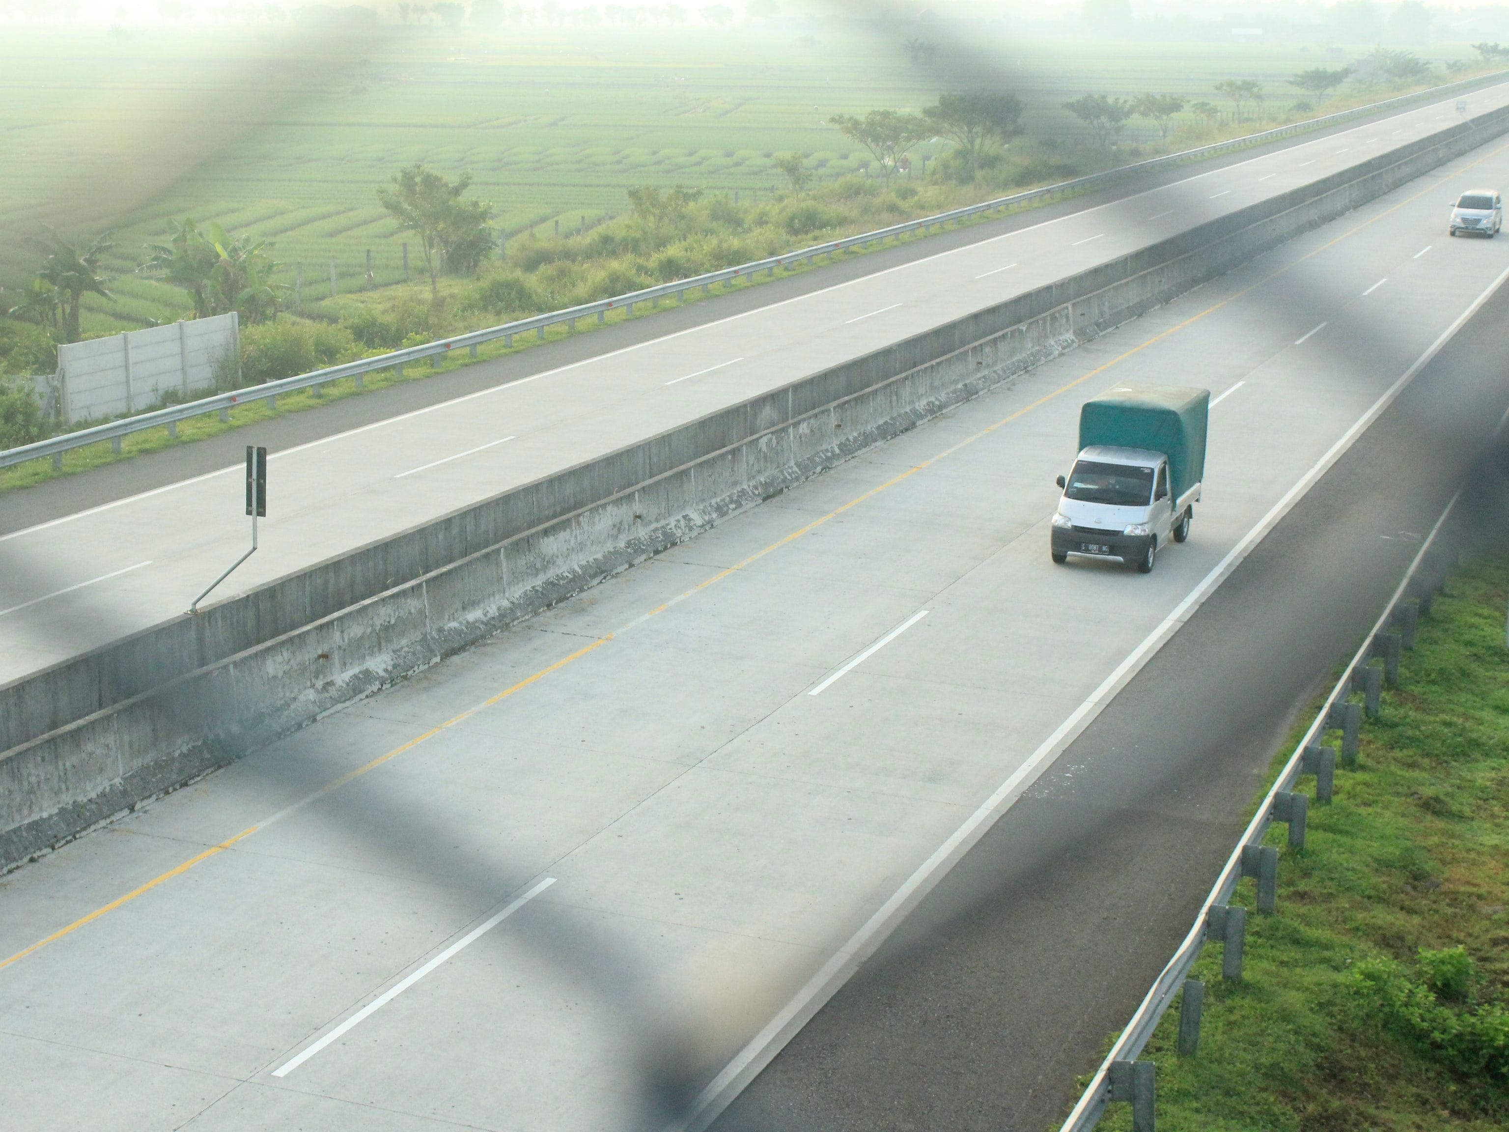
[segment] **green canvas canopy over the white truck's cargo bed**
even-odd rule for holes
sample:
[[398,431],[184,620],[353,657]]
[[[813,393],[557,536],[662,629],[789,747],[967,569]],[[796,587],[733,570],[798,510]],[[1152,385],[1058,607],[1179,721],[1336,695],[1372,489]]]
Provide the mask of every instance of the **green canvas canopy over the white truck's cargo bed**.
[[1109,444],[1168,456],[1174,498],[1206,477],[1210,389],[1118,385],[1079,411],[1079,447]]

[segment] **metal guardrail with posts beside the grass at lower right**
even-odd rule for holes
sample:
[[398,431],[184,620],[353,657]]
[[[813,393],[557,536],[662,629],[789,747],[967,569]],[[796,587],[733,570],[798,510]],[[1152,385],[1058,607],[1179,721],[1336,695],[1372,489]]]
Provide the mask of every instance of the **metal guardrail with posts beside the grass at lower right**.
[[[1444,584],[1446,566],[1437,563],[1428,577],[1421,577],[1420,568],[1432,554],[1441,528],[1450,518],[1461,492],[1452,497],[1441,518],[1437,519],[1431,534],[1420,545],[1420,551],[1409,563],[1403,581],[1394,590],[1393,598],[1384,607],[1382,616],[1373,625],[1363,641],[1363,646],[1352,657],[1342,679],[1337,681],[1331,694],[1316,714],[1314,721],[1305,731],[1304,738],[1295,747],[1289,762],[1278,773],[1272,788],[1252,815],[1252,821],[1242,833],[1242,839],[1227,859],[1225,868],[1210,895],[1206,897],[1195,918],[1194,927],[1185,936],[1183,943],[1174,957],[1159,974],[1142,1004],[1136,1008],[1132,1020],[1111,1047],[1100,1069],[1089,1079],[1085,1091],[1079,1097],[1068,1118],[1059,1132],[1088,1132],[1100,1120],[1108,1103],[1117,1100],[1132,1102],[1133,1129],[1153,1127],[1153,1066],[1139,1063],[1138,1055],[1144,1050],[1153,1031],[1163,1014],[1172,1005],[1174,998],[1185,987],[1185,980],[1194,969],[1200,952],[1207,942],[1221,942],[1224,946],[1222,967],[1227,977],[1233,977],[1233,969],[1240,974],[1240,948],[1245,928],[1246,910],[1228,906],[1236,886],[1242,877],[1255,875],[1259,881],[1257,910],[1274,912],[1274,897],[1278,883],[1278,850],[1265,847],[1263,838],[1275,821],[1289,824],[1290,845],[1304,844],[1305,815],[1308,814],[1308,795],[1295,791],[1299,779],[1305,774],[1316,776],[1316,800],[1329,801],[1331,776],[1335,771],[1334,759],[1340,756],[1343,764],[1357,758],[1357,737],[1361,727],[1361,717],[1366,706],[1369,715],[1376,715],[1384,681],[1393,682],[1399,673],[1399,652],[1414,646],[1415,617],[1429,608],[1431,595]],[[1408,605],[1406,598],[1415,590],[1420,605]],[[1400,634],[1390,632],[1399,625]],[[1382,657],[1384,667],[1375,667],[1370,661]],[[1366,705],[1351,703],[1354,693],[1361,691]],[[1320,738],[1328,731],[1342,731],[1342,747],[1320,746]],[[1234,913],[1234,915],[1233,915]],[[1236,955],[1233,957],[1233,946]],[[1198,1011],[1198,1007],[1195,1007]],[[1198,1035],[1198,1020],[1194,1022],[1194,1032]],[[1180,1019],[1180,1038],[1185,1038],[1185,1019]],[[1198,1037],[1195,1038],[1198,1040]],[[1141,1072],[1138,1072],[1141,1070]],[[1141,1112],[1138,1109],[1142,1109]]]

